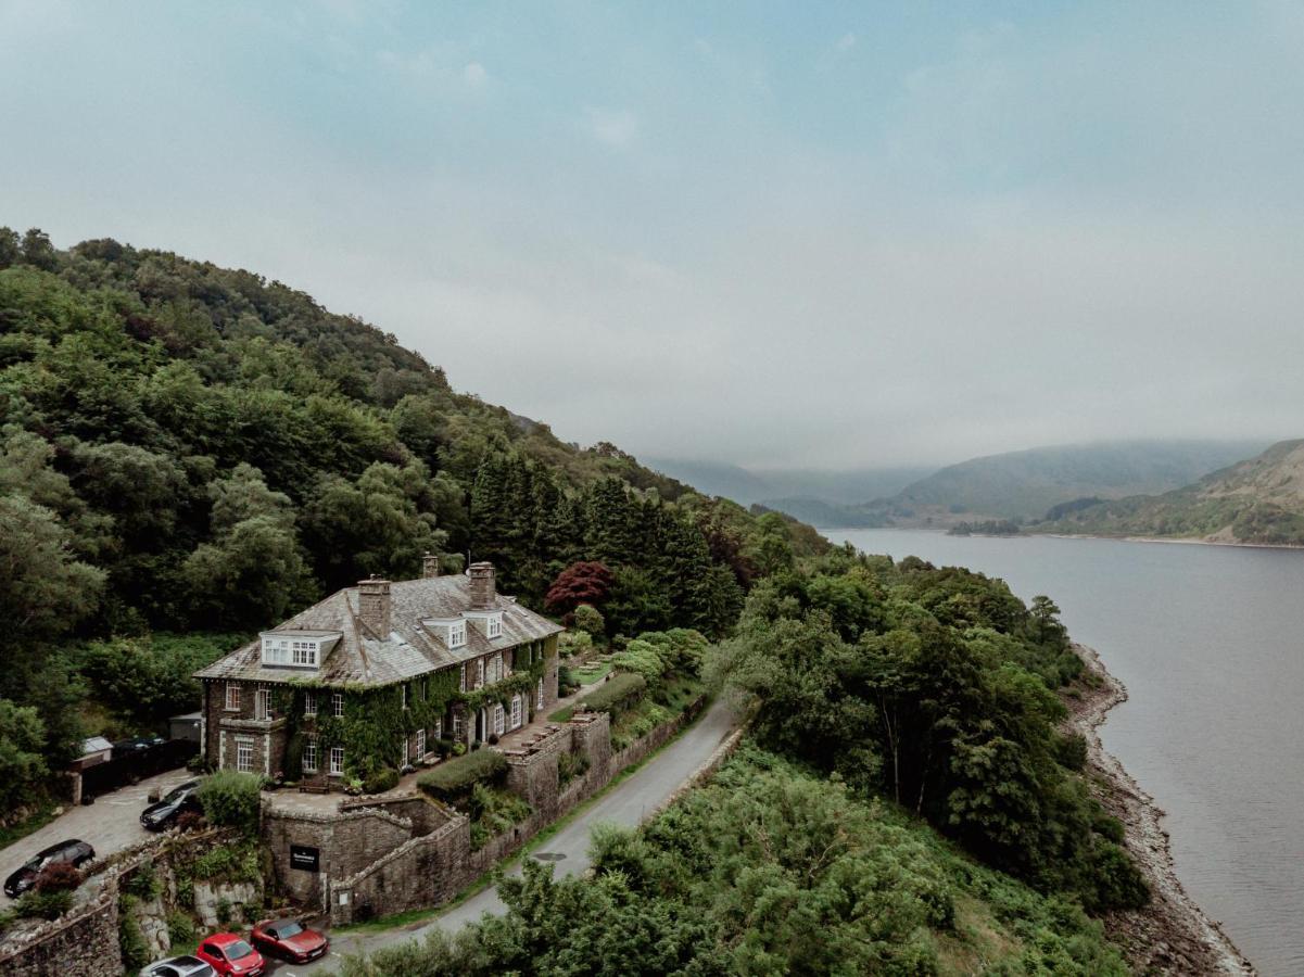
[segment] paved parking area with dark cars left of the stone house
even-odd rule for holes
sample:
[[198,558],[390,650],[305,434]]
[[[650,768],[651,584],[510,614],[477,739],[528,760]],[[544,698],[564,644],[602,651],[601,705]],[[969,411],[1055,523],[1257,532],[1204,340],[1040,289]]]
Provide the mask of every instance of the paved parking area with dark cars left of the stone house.
[[149,806],[149,792],[159,788],[167,793],[173,787],[194,777],[186,770],[173,770],[167,774],[142,780],[121,790],[100,794],[95,804],[69,807],[46,827],[21,837],[0,850],[0,878],[8,875],[42,848],[68,839],[89,841],[100,858],[130,848],[150,837],[141,827],[141,811]]

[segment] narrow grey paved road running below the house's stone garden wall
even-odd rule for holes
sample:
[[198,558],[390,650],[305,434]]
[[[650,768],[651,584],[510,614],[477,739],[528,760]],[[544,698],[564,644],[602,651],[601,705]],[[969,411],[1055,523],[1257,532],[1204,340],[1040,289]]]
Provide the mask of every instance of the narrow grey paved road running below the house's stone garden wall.
[[[614,823],[636,827],[643,823],[659,805],[698,770],[734,728],[734,714],[717,699],[698,721],[689,727],[678,740],[644,763],[636,772],[622,780],[583,814],[574,818],[531,857],[553,862],[557,875],[572,875],[589,867],[588,832],[599,823]],[[509,873],[520,873],[519,862]],[[485,888],[454,907],[430,922],[415,924],[407,929],[385,933],[342,934],[331,940],[335,957],[359,951],[374,952],[382,947],[402,943],[407,939],[422,938],[434,927],[454,931],[467,922],[479,920],[484,913],[502,913],[505,909],[498,899],[497,888]],[[331,965],[323,959],[313,967],[292,967],[280,970],[286,974],[323,972]]]

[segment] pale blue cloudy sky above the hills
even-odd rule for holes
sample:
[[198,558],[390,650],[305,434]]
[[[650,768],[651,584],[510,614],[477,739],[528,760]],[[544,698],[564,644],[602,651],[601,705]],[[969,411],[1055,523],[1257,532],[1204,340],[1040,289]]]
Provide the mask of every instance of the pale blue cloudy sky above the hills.
[[0,0],[0,224],[643,457],[1300,437],[1301,50],[1256,0]]

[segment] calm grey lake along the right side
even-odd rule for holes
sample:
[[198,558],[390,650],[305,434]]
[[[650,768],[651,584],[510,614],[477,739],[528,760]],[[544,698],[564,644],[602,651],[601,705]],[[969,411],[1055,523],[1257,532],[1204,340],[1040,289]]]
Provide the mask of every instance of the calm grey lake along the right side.
[[1179,878],[1260,973],[1304,974],[1304,552],[824,530],[1048,594],[1131,694],[1101,729]]

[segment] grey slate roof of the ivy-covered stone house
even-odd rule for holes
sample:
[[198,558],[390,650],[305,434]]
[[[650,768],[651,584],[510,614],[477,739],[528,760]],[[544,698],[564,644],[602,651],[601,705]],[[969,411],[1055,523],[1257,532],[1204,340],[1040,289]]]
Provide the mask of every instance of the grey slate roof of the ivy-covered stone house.
[[471,580],[464,575],[398,580],[390,584],[390,625],[386,637],[372,634],[357,617],[357,587],[342,591],[283,621],[266,634],[334,635],[319,669],[275,668],[262,664],[262,639],[237,648],[196,678],[240,678],[258,682],[312,681],[325,685],[390,685],[480,657],[490,651],[539,640],[563,629],[524,608],[515,597],[497,595],[492,609],[502,612],[502,635],[489,639],[467,627],[467,643],[449,648],[422,620],[456,618],[471,610]]

